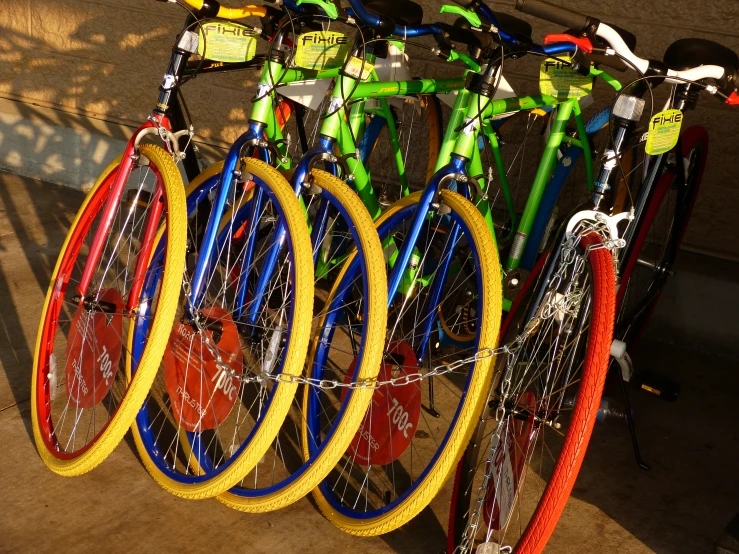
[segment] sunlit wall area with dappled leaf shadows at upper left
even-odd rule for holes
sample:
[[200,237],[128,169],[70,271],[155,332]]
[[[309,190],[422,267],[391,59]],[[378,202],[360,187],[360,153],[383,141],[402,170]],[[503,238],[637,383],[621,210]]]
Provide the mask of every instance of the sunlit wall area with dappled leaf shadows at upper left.
[[[155,106],[184,12],[46,4],[33,25],[0,17],[0,95],[22,100],[0,100],[0,167],[88,189]],[[199,136],[238,135],[247,112],[234,106],[250,98],[253,77],[209,76],[185,87]]]

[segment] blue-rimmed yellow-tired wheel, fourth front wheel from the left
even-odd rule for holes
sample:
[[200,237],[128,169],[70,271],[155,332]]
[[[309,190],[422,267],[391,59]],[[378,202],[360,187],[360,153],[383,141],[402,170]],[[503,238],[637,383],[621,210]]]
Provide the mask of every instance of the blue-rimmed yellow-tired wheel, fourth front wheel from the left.
[[[378,221],[386,259],[404,240],[407,225],[415,212],[419,193],[398,202]],[[418,271],[409,274],[404,290],[389,312],[390,326],[378,380],[400,378],[395,386],[383,385],[373,394],[369,410],[363,414],[350,447],[314,491],[324,515],[340,529],[357,535],[377,535],[398,528],[418,514],[443,485],[472,431],[470,423],[482,410],[491,373],[490,358],[480,359],[459,372],[405,384],[403,378],[431,367],[462,360],[481,348],[493,347],[500,322],[500,274],[495,245],[477,209],[458,194],[442,191],[441,201],[450,214],[427,220],[414,254]],[[459,234],[451,231],[456,227]],[[466,349],[441,348],[419,359],[419,337],[414,329],[422,323],[422,300],[436,276],[434,268],[443,260],[433,259],[435,248],[444,250],[444,241],[455,241],[451,253],[468,253],[475,267],[478,294],[478,338]],[[438,239],[438,244],[436,243]],[[412,262],[413,263],[413,262]],[[441,277],[439,277],[441,278]],[[458,283],[450,278],[450,287]],[[445,290],[448,290],[445,289]],[[435,310],[431,313],[435,316]],[[435,318],[434,318],[435,319]],[[434,341],[438,337],[434,328]],[[324,341],[310,369],[315,377],[329,374],[322,364],[332,344]],[[341,348],[341,345],[337,345]],[[346,379],[346,377],[344,378]],[[329,391],[330,392],[330,391]],[[338,393],[337,393],[338,394]],[[342,391],[341,396],[357,394]],[[337,398],[320,390],[305,396],[311,416],[307,433],[309,454],[325,439],[326,414],[335,409]],[[432,414],[436,414],[436,417]]]

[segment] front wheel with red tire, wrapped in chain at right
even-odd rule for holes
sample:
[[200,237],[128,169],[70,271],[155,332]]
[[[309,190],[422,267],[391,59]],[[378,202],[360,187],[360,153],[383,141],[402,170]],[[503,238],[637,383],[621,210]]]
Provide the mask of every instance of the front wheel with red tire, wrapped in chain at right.
[[510,353],[457,469],[450,554],[541,552],[580,471],[607,373],[614,267],[593,235],[556,256],[506,322]]

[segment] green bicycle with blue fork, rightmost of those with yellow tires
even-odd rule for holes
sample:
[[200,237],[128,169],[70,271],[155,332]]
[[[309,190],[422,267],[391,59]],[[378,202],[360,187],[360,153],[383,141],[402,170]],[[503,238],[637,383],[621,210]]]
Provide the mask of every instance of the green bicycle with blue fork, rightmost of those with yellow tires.
[[[383,17],[392,18],[396,11],[409,12],[410,8],[402,4],[383,4]],[[387,20],[363,9],[358,2],[352,2],[353,15],[361,21],[371,27],[389,28]],[[464,29],[440,24],[393,28],[395,36],[442,32],[455,41],[482,46],[480,54],[491,49],[492,40],[487,42],[486,35]],[[562,51],[559,46],[550,48]],[[565,49],[572,51],[573,47],[567,45]],[[457,114],[466,112],[469,121],[477,121],[482,112],[492,116],[533,108],[537,102],[557,103],[552,97],[492,100],[495,73],[496,68],[490,64],[482,75],[476,75],[473,92],[460,91],[455,105]],[[428,85],[420,81],[418,86]],[[361,87],[361,83],[356,86],[360,98]],[[486,112],[488,107],[490,111]],[[448,137],[453,137],[448,145],[451,162],[437,171],[424,190],[404,197],[377,220],[389,273],[388,309],[394,320],[386,339],[379,383],[371,385],[381,386],[343,459],[330,468],[329,476],[314,491],[314,499],[324,515],[353,534],[391,531],[430,502],[461,454],[472,431],[471,424],[483,409],[483,391],[492,378],[491,360],[497,352],[494,346],[502,298],[497,249],[479,202],[475,205],[469,200],[482,196],[475,180],[467,177],[468,162],[476,152],[479,155],[479,127],[470,126],[469,132],[455,127],[456,124],[450,124],[447,128],[440,153],[440,160],[444,160],[444,145]],[[445,188],[455,182],[460,194]],[[389,253],[388,246],[392,248]],[[466,271],[461,272],[461,267],[466,267]],[[359,273],[356,264],[346,260],[334,290],[338,287],[349,294],[352,280]],[[437,306],[442,296],[465,280],[477,287],[474,338],[464,348],[441,353],[439,344],[434,347],[430,337],[437,321]],[[332,295],[329,302],[343,296]],[[303,413],[308,416],[303,431],[303,459],[312,462],[321,452],[324,437],[331,436],[326,431],[333,428],[331,414],[347,398],[364,393],[363,389],[370,386],[366,381],[357,382],[351,366],[348,371],[327,367],[325,357],[342,345],[330,343],[330,333],[324,335],[322,331],[319,336],[326,339],[320,340],[312,352],[304,381],[314,386],[306,387],[303,393]],[[433,362],[432,355],[444,362]],[[427,441],[424,445],[422,441],[426,439],[433,443]],[[230,493],[229,504],[232,498]]]

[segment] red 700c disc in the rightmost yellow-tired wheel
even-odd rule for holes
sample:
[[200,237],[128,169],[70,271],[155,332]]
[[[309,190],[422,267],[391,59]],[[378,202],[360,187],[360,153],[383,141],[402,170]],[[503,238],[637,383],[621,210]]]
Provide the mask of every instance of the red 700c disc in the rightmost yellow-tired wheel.
[[[395,354],[399,358],[397,361],[402,359],[402,367],[383,362],[377,376],[379,381],[418,372],[416,353],[407,342],[391,343],[388,352]],[[356,359],[349,367],[344,382],[352,380],[355,365]],[[345,396],[346,390],[342,394],[342,401]],[[378,388],[349,447],[351,456],[363,466],[385,465],[397,460],[411,444],[420,415],[420,382]]]

